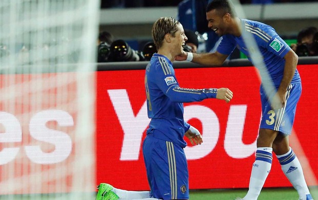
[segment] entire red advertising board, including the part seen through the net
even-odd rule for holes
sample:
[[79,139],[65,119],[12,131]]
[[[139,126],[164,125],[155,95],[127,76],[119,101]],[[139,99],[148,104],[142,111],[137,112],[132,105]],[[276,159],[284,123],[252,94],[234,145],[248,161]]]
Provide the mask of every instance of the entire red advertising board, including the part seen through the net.
[[[314,151],[318,144],[315,97],[318,65],[299,65],[297,69],[303,91],[290,145],[302,163],[308,185],[312,186],[317,185],[318,178],[318,157]],[[150,122],[145,70],[93,73],[96,75],[96,163],[90,166],[96,166],[95,170],[91,167],[95,184],[149,190],[142,155],[142,142]],[[227,87],[234,93],[230,103],[205,99],[184,104],[185,120],[202,133],[204,140],[198,146],[191,146],[187,141],[190,189],[247,188],[261,119],[260,80],[256,69],[183,68],[175,69],[175,73],[181,87]],[[79,123],[76,74],[10,74],[1,78],[0,194],[70,192],[78,175],[74,171],[75,157],[82,156],[78,147],[83,145],[76,140]],[[12,85],[15,85],[14,94],[10,91]],[[265,187],[290,187],[273,157]],[[90,186],[86,191],[96,191]]]

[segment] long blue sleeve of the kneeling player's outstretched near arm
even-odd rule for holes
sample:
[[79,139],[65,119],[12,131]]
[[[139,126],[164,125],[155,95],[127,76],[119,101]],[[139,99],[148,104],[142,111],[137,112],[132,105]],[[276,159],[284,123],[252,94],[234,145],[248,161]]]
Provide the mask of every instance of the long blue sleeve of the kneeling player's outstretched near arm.
[[209,89],[189,89],[189,88],[181,88],[176,80],[174,75],[173,67],[169,64],[164,66],[164,70],[162,70],[160,64],[156,66],[156,83],[157,86],[163,91],[166,96],[172,102],[200,102],[206,98],[216,98],[217,89],[209,88]]

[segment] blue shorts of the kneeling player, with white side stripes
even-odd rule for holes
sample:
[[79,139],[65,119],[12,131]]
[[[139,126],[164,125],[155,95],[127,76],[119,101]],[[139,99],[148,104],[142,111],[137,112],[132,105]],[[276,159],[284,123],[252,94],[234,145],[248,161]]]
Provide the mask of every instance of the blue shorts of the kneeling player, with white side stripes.
[[189,199],[188,164],[183,148],[149,133],[143,155],[151,197]]

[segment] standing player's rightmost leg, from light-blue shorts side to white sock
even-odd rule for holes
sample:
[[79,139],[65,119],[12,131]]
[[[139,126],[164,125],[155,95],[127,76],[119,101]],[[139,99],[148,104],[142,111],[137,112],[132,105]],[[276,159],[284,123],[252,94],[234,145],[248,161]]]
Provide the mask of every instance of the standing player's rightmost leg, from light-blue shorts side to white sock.
[[299,159],[289,147],[289,135],[291,134],[292,124],[294,122],[297,102],[301,94],[301,84],[291,84],[288,99],[285,105],[285,114],[280,126],[281,133],[277,135],[273,142],[273,151],[277,155],[282,166],[284,174],[290,183],[299,193],[300,199],[312,199],[307,187],[302,166]]

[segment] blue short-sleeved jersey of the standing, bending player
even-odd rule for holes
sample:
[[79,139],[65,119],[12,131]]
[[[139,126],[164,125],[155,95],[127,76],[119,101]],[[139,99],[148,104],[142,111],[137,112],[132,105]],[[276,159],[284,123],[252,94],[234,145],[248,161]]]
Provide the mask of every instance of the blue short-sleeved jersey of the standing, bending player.
[[[291,50],[290,47],[271,26],[248,19],[241,19],[241,22],[242,35],[249,32],[254,37],[256,45],[262,54],[262,59],[267,68],[269,78],[271,79],[266,79],[266,77],[263,76],[262,84],[267,84],[272,81],[275,86],[279,86],[284,74],[284,56]],[[223,35],[222,41],[217,47],[217,51],[222,54],[229,55],[235,47],[237,47],[248,57],[249,61],[253,62],[251,60],[250,53],[253,53],[254,47],[252,47],[249,52],[242,35],[240,37],[235,37],[231,34]],[[253,65],[256,68],[260,67],[257,66],[256,63],[253,63]],[[300,82],[301,78],[296,70],[291,84]]]

